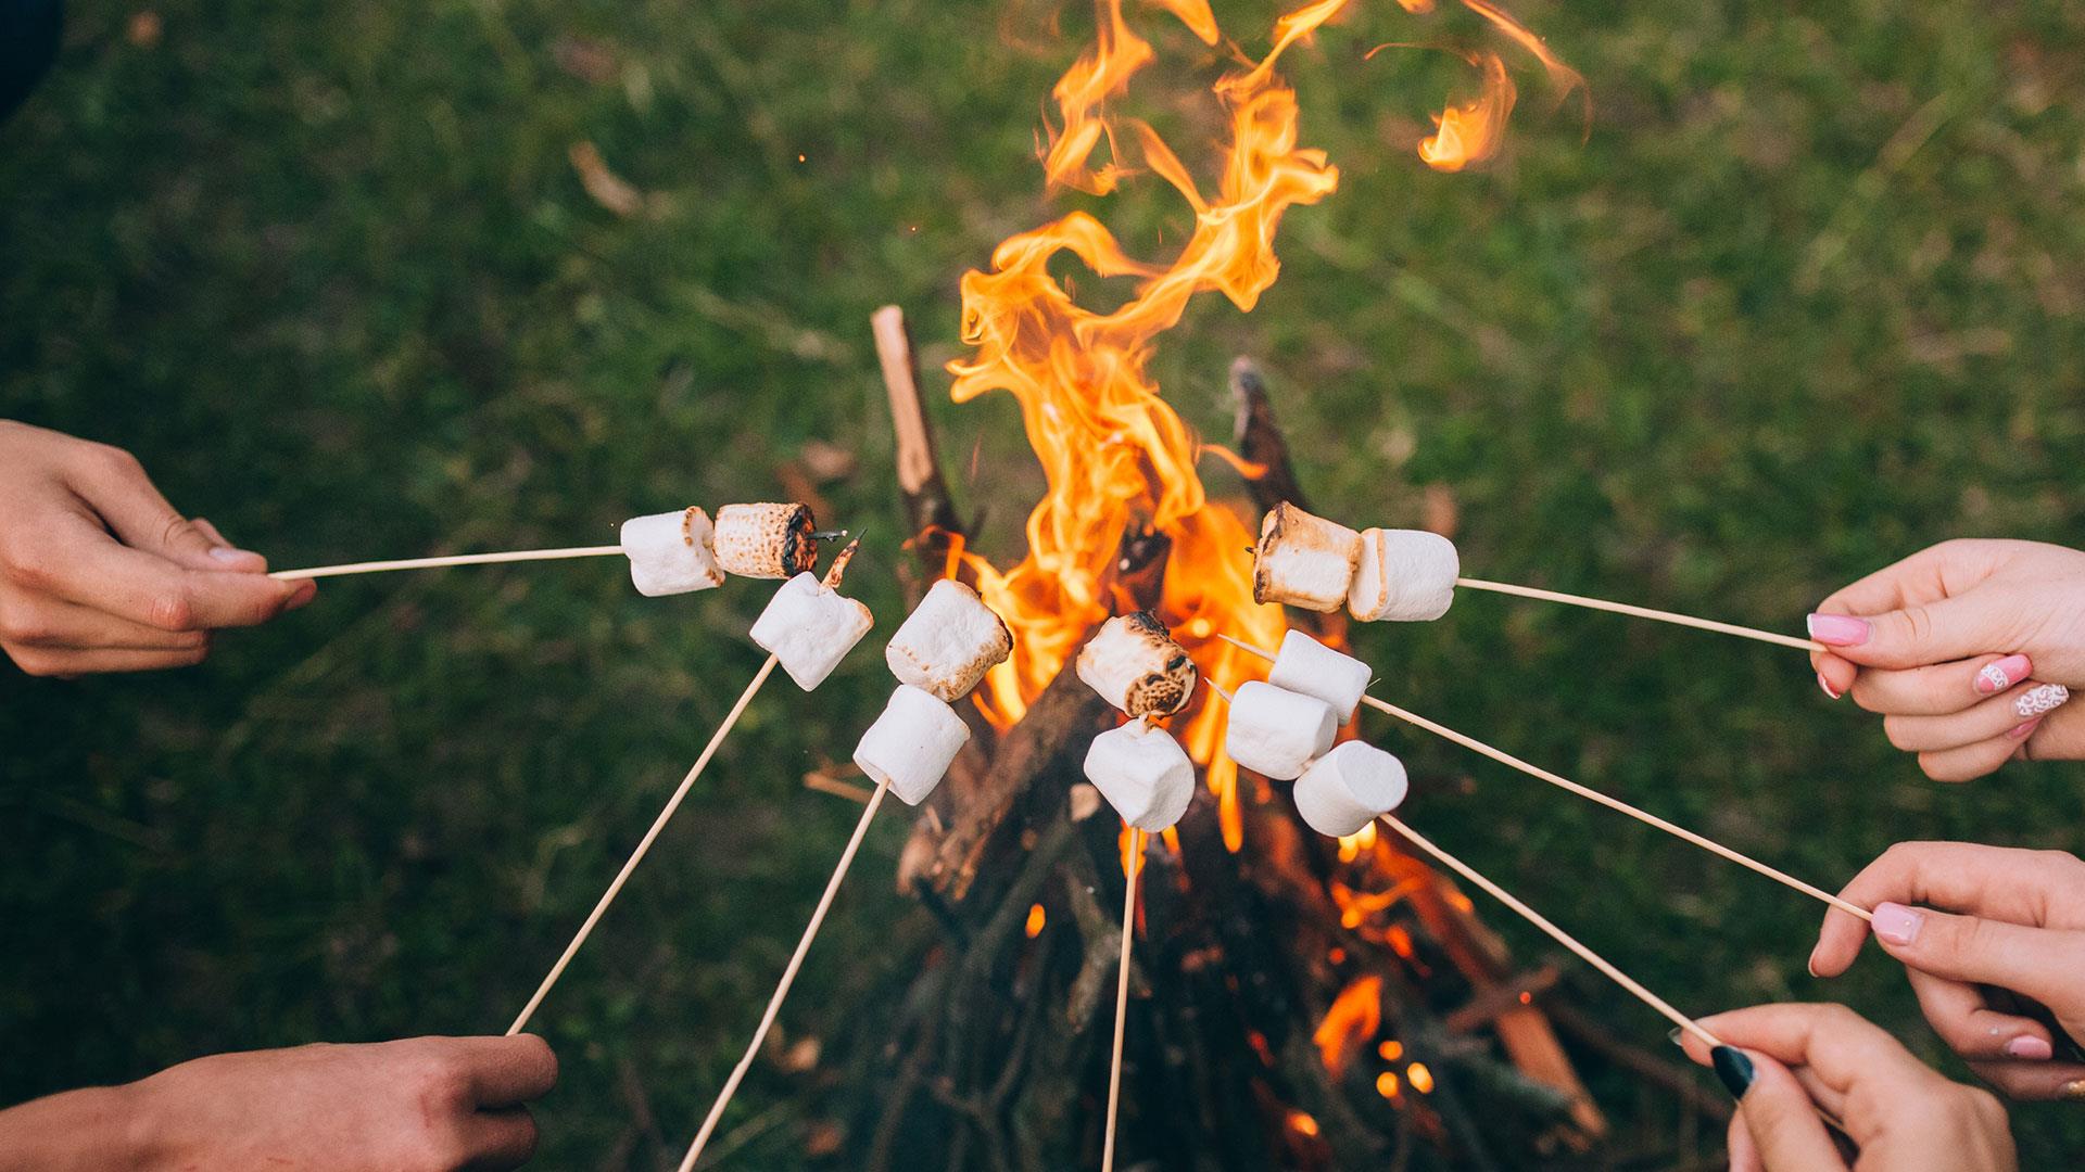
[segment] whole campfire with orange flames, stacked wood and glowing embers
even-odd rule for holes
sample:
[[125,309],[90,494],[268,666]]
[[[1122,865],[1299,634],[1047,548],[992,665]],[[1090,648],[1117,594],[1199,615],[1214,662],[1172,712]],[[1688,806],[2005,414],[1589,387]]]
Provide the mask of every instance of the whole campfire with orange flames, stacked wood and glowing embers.
[[[1153,21],[1228,44],[1203,0],[1155,6],[1166,15]],[[1580,86],[1503,10],[1468,6],[1532,52],[1560,94]],[[1134,903],[1120,1166],[1568,1162],[1608,1132],[1585,1061],[1664,1086],[1706,1120],[1726,1114],[1664,1057],[1557,1003],[1553,968],[1516,966],[1470,901],[1376,826],[1322,838],[1224,753],[1224,697],[1266,676],[1230,640],[1276,646],[1295,621],[1339,646],[1345,617],[1253,599],[1253,517],[1309,507],[1253,365],[1232,369],[1232,448],[1195,436],[1149,365],[1197,294],[1251,311],[1280,269],[1284,213],[1336,188],[1330,161],[1301,146],[1276,65],[1343,8],[1322,0],[1282,15],[1272,50],[1213,83],[1228,138],[1205,190],[1151,125],[1113,111],[1157,50],[1120,0],[1097,6],[1095,44],[1053,90],[1047,181],[1109,196],[1157,179],[1195,227],[1155,263],[1080,211],[1005,240],[990,271],[963,277],[970,355],[949,367],[951,394],[1011,392],[1047,482],[1017,563],[995,565],[959,521],[903,317],[876,319],[917,534],[913,601],[940,578],[974,586],[1013,632],[1013,655],[965,711],[974,736],[903,851],[899,884],[930,924],[917,966],[899,966],[909,982],[849,1016],[853,1059],[832,1105],[849,1168],[1097,1164],[1122,932],[1111,909],[1136,832],[1082,778],[1115,713],[1072,661],[1105,619],[1134,611],[1155,613],[1211,686],[1172,722],[1201,790],[1153,840]],[[1480,94],[1445,108],[1418,144],[1443,171],[1495,152],[1516,100],[1497,54],[1472,65]],[[1134,282],[1134,296],[1088,309],[1057,275],[1065,254],[1093,277]],[[1209,494],[1205,457],[1245,500]]]

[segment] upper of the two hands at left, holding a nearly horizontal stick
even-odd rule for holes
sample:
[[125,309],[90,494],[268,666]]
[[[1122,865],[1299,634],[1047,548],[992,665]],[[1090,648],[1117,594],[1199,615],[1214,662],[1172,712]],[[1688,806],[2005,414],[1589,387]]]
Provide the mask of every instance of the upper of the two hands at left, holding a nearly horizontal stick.
[[183,519],[129,453],[0,419],[0,651],[23,672],[186,667],[313,594]]

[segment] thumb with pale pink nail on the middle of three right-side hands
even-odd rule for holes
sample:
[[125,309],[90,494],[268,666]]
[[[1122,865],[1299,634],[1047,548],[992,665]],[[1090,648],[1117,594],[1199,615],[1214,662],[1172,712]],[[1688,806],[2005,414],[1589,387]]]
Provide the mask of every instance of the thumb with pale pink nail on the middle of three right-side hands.
[[2064,1011],[2085,968],[2085,932],[2029,928],[1981,915],[1949,915],[1902,903],[1874,905],[1874,938],[1918,972],[1995,984]]

